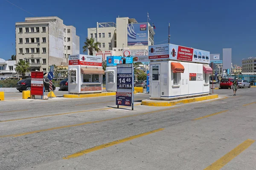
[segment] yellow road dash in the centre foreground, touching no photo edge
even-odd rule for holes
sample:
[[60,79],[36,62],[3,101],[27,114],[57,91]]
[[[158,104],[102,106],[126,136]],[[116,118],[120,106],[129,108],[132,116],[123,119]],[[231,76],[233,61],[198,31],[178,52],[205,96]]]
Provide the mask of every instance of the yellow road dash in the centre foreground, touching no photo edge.
[[77,152],[77,153],[71,154],[69,156],[63,157],[63,159],[76,158],[76,157],[82,156],[84,154],[94,152],[96,150],[101,150],[101,149],[104,149],[106,147],[111,147],[113,145],[120,144],[120,143],[123,143],[123,142],[127,142],[127,141],[130,141],[132,139],[136,139],[136,138],[139,138],[139,137],[142,137],[142,136],[149,135],[151,133],[159,132],[161,130],[164,130],[164,128],[157,129],[157,130],[152,130],[152,131],[149,131],[149,132],[146,132],[146,133],[141,133],[141,134],[135,135],[135,136],[130,136],[130,137],[125,138],[125,139],[120,139],[120,140],[117,140],[117,141],[109,142],[109,143],[102,144],[102,145],[99,145],[99,146],[96,146],[96,147],[92,147],[92,148],[87,149],[87,150],[82,150],[80,152]]

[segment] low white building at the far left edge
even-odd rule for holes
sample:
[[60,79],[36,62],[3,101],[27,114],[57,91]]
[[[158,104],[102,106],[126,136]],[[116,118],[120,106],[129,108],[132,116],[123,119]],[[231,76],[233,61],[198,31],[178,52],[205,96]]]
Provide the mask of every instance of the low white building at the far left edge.
[[0,58],[0,79],[15,76],[15,60],[4,60]]

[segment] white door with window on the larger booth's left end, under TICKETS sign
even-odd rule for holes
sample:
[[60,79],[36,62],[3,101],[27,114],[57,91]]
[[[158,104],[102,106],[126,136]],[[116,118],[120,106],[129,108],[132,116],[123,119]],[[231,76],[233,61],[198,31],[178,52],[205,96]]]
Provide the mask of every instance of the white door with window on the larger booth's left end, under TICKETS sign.
[[152,64],[150,72],[152,73],[150,76],[150,92],[151,97],[160,98],[160,64]]

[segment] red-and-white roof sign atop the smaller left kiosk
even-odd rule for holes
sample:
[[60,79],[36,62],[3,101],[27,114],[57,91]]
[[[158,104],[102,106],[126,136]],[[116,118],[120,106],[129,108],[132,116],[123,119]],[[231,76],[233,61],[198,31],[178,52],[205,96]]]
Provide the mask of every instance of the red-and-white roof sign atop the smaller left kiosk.
[[69,65],[90,65],[90,66],[102,66],[102,57],[89,56],[89,55],[70,55]]

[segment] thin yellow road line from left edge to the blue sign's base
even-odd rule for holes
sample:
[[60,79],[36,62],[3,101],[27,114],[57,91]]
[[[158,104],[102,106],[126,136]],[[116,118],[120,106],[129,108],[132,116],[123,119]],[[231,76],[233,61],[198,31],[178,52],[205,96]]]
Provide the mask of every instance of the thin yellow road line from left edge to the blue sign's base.
[[[136,104],[134,106],[141,105],[141,103]],[[120,106],[119,108],[126,108],[128,106]],[[102,108],[102,109],[93,109],[93,110],[85,110],[85,111],[75,111],[75,112],[68,112],[68,113],[59,113],[59,114],[52,114],[52,115],[44,115],[44,116],[35,116],[35,117],[26,117],[26,118],[20,118],[20,119],[10,119],[10,120],[3,120],[1,122],[11,122],[11,121],[17,121],[17,120],[26,120],[26,119],[35,119],[35,118],[42,118],[42,117],[50,117],[50,116],[61,116],[66,114],[74,114],[74,113],[84,113],[84,112],[90,112],[90,111],[102,111],[102,110],[109,110],[113,108]]]

